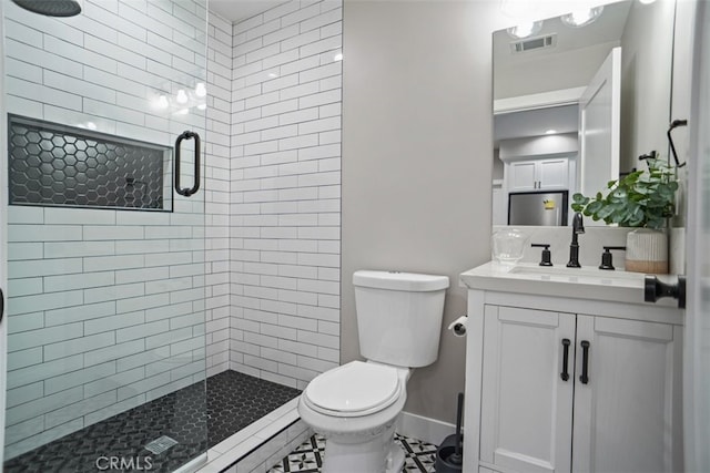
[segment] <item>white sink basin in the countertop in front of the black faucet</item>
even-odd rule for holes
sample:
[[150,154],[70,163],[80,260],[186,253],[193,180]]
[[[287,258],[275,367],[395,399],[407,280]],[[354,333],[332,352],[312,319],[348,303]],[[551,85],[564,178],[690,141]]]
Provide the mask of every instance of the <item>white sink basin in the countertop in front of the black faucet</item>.
[[510,274],[539,278],[540,280],[591,282],[611,286],[642,286],[643,275],[596,268],[568,268],[559,266],[514,266]]

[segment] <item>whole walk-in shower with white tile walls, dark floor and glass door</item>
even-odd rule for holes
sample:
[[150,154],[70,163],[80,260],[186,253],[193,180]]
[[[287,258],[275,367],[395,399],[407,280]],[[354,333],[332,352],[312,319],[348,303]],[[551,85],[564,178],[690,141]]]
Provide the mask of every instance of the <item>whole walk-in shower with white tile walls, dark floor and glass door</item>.
[[0,0],[4,471],[266,462],[339,361],[342,2],[45,3]]

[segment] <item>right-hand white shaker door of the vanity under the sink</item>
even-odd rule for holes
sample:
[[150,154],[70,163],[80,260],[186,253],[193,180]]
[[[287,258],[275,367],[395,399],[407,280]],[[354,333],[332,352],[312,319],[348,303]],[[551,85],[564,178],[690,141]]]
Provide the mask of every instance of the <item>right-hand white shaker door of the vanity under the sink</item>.
[[681,333],[666,323],[577,316],[575,473],[683,471]]

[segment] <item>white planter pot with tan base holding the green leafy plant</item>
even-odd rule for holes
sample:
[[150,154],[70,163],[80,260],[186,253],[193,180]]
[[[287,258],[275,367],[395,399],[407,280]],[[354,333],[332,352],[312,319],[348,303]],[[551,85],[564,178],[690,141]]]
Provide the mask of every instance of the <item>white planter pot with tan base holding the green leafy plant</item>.
[[668,273],[668,236],[662,230],[638,228],[626,236],[626,270],[665,275]]

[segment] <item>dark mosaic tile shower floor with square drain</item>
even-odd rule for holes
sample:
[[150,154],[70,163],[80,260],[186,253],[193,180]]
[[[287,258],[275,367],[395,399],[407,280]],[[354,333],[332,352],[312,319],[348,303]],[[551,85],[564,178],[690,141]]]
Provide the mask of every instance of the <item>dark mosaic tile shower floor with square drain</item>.
[[[111,457],[132,462],[134,471],[172,472],[301,393],[236,371],[206,384],[206,401],[204,382],[189,385],[11,459],[3,472],[97,472]],[[144,449],[161,435],[178,444],[160,454]]]

